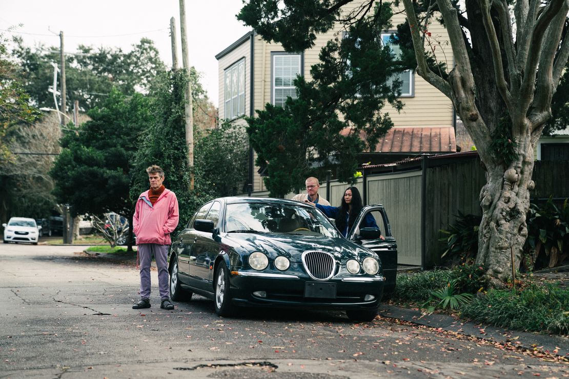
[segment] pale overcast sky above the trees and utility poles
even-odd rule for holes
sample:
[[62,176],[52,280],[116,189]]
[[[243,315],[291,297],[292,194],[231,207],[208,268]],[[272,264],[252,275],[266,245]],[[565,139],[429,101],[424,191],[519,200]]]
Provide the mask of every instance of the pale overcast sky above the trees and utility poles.
[[[201,73],[201,83],[218,104],[218,66],[215,55],[250,31],[236,19],[241,0],[185,0],[189,64]],[[130,51],[141,38],[154,41],[160,58],[172,64],[170,18],[176,19],[178,61],[182,65],[178,0],[0,0],[0,33],[17,34],[24,44],[59,47],[63,31],[66,52],[77,45],[119,47]],[[11,26],[18,26],[6,32]]]

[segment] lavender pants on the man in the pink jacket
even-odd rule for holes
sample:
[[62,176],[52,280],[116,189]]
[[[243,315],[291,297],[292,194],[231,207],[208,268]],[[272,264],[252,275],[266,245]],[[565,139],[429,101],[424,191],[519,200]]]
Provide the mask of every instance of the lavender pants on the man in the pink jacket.
[[156,258],[158,267],[158,288],[160,299],[170,298],[168,289],[168,245],[145,243],[138,245],[138,257],[141,263],[141,298],[150,299],[150,262],[152,255]]

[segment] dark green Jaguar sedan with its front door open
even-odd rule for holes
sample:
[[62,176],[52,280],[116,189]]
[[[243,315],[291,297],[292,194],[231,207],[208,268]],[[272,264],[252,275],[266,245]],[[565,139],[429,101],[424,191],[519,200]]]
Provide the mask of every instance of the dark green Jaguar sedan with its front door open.
[[[382,238],[378,228],[358,228],[368,213],[384,228]],[[200,294],[220,316],[270,306],[372,320],[395,285],[397,244],[381,205],[364,207],[346,239],[310,205],[228,197],[197,210],[172,239],[168,261],[172,300]]]

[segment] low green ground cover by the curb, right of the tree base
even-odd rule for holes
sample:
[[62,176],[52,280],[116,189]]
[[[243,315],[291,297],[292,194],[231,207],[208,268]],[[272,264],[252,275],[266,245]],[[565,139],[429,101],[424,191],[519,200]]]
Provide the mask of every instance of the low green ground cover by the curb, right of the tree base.
[[462,307],[465,318],[515,330],[569,333],[569,290],[531,284],[519,294],[490,290]]

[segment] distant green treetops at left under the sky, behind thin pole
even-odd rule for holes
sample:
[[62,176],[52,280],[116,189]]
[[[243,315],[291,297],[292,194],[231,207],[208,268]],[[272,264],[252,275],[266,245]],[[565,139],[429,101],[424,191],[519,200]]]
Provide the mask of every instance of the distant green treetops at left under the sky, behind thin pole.
[[[24,89],[36,106],[53,108],[53,97],[47,88],[53,85],[51,62],[60,61],[59,47],[30,48],[24,45],[22,38],[14,38],[14,41],[13,53]],[[165,69],[158,49],[147,38],[134,44],[130,52],[80,45],[77,54],[68,54],[65,58],[68,105],[71,107],[72,100],[78,99],[84,110],[101,106],[111,88],[125,95],[137,90],[146,93],[153,78]]]

